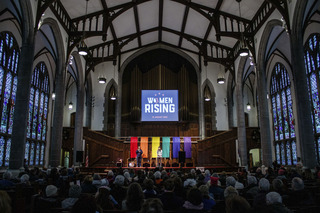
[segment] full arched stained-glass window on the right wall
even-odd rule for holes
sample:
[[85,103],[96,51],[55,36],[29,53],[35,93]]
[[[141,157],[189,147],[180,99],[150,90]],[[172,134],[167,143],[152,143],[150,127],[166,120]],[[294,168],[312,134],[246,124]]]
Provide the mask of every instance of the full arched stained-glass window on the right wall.
[[285,67],[280,63],[273,69],[270,88],[277,162],[294,165],[297,161],[297,151],[290,79]]

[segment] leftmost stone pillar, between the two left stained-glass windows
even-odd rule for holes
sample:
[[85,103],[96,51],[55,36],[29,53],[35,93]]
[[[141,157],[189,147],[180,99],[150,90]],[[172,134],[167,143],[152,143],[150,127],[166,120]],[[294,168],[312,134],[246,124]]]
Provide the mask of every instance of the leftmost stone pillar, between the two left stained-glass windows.
[[12,170],[22,167],[24,160],[34,56],[34,33],[30,34],[32,34],[30,35],[30,39],[22,44],[18,64],[18,85],[14,107],[9,162],[9,168]]

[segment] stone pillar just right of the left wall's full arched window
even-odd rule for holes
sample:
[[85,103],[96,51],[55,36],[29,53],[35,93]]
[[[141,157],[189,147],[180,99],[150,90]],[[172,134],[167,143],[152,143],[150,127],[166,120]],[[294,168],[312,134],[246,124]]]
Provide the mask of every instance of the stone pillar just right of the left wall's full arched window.
[[49,165],[52,167],[59,166],[61,161],[63,110],[65,96],[64,79],[65,65],[63,64],[57,67],[55,80],[56,99],[54,101],[54,115],[49,157]]

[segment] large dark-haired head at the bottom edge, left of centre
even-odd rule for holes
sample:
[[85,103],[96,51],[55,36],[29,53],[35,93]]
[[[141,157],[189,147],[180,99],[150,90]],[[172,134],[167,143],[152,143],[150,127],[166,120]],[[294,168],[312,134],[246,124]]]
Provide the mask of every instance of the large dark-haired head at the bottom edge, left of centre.
[[95,198],[85,194],[80,196],[78,201],[73,205],[71,213],[96,213],[97,209]]

